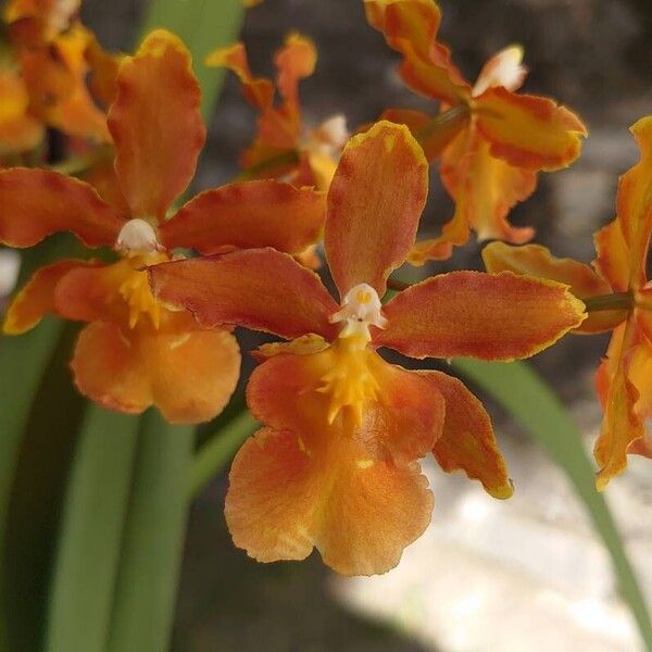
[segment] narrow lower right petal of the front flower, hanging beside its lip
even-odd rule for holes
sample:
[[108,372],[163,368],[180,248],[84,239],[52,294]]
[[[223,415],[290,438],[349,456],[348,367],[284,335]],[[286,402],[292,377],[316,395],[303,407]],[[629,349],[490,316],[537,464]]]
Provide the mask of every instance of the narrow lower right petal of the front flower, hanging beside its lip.
[[464,384],[440,372],[423,372],[446,401],[443,432],[432,454],[447,473],[462,469],[493,498],[511,498],[514,487],[500,453],[491,418]]

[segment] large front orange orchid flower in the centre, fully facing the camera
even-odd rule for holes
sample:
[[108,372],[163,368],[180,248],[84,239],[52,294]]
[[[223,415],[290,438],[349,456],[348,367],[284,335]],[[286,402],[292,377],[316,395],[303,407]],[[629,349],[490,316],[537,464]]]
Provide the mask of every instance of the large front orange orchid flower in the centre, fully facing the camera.
[[330,185],[326,258],[341,303],[314,272],[272,249],[150,268],[154,294],[204,326],[239,324],[292,340],[263,347],[249,381],[264,424],[239,451],[226,518],[259,561],[313,546],[347,575],[384,573],[430,521],[418,459],[432,452],[489,493],[512,486],[489,416],[457,379],[408,371],[377,352],[514,360],[584,319],[566,286],[505,273],[453,272],[400,292],[388,275],[414,244],[428,163],[406,127],[380,122],[346,146]]

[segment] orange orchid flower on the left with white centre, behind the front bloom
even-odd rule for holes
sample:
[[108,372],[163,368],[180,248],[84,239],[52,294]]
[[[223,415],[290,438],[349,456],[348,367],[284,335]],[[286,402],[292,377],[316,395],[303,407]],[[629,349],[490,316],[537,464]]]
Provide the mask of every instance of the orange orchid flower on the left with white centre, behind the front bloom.
[[274,246],[296,253],[317,238],[325,215],[319,193],[261,180],[202,192],[166,218],[205,139],[199,102],[190,53],[174,35],[153,32],[123,61],[109,128],[130,218],[84,181],[45,170],[0,172],[0,242],[30,247],[72,231],[87,247],[121,253],[112,264],[64,260],[36,272],[11,304],[4,331],[23,333],[48,312],[88,322],[72,361],[79,390],[124,412],[154,404],[183,423],[208,421],[224,408],[239,350],[229,328],[206,329],[154,299],[145,267],[170,261],[175,248]]

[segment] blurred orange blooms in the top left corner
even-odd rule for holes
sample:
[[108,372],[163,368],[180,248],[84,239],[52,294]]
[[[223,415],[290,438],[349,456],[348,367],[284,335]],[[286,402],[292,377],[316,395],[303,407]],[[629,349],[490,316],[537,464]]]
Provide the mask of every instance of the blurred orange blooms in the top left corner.
[[47,126],[71,137],[110,141],[101,106],[111,99],[117,58],[104,52],[78,21],[79,5],[80,0],[10,0],[4,8],[12,49],[0,63],[0,156],[5,163],[35,150]]

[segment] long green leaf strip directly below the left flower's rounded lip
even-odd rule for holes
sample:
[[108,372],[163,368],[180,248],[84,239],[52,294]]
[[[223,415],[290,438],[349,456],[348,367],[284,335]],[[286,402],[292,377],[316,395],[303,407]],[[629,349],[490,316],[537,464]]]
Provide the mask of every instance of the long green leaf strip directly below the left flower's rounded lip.
[[106,652],[168,649],[192,447],[191,427],[142,417]]

